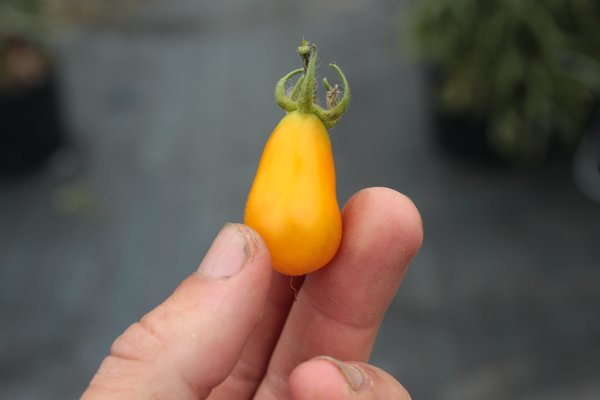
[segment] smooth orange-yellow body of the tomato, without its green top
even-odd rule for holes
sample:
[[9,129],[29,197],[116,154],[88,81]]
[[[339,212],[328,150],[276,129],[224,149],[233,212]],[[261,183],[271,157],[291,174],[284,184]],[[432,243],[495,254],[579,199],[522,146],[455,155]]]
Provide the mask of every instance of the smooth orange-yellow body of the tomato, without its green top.
[[329,135],[313,114],[290,112],[265,146],[244,222],[265,240],[273,268],[304,275],[327,264],[342,239]]

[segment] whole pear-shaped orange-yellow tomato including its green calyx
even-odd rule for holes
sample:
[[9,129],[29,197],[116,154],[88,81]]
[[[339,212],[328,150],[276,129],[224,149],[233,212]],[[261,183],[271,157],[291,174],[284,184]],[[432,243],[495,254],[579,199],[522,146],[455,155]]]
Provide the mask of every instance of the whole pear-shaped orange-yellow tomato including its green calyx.
[[[315,103],[316,46],[298,47],[303,68],[277,82],[275,100],[288,113],[263,152],[246,203],[244,222],[265,240],[273,268],[303,275],[329,262],[342,240],[342,218],[335,191],[335,168],[326,128],[333,127],[350,103],[348,81],[331,63],[342,85],[326,79],[327,108]],[[291,91],[288,80],[300,73]]]

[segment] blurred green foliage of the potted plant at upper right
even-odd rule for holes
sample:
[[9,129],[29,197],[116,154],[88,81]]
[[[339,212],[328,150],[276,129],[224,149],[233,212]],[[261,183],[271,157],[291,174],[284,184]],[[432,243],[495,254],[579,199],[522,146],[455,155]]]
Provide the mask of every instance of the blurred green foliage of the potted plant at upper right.
[[581,137],[600,93],[600,1],[420,0],[411,17],[440,105],[483,117],[498,151],[542,157]]

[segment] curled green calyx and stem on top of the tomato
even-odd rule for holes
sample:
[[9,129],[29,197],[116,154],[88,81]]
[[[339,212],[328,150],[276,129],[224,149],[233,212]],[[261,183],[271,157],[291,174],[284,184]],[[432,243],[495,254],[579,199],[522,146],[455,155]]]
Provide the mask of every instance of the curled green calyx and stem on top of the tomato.
[[[275,85],[275,100],[284,110],[299,111],[306,114],[315,114],[327,128],[333,127],[338,123],[346,108],[350,104],[350,86],[344,76],[344,73],[335,63],[329,66],[338,74],[342,89],[338,85],[331,86],[326,78],[323,79],[323,85],[327,89],[326,107],[321,107],[315,102],[315,71],[317,65],[317,47],[303,40],[298,47],[298,54],[302,58],[303,68],[293,70],[285,75]],[[303,73],[294,84],[292,90],[286,91],[287,82],[294,76]]]

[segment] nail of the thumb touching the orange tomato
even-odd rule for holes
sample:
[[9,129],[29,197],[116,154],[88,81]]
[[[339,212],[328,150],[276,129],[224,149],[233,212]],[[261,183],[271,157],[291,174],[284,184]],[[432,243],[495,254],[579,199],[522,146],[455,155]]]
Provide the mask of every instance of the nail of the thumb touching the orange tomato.
[[225,224],[200,263],[199,273],[218,279],[242,269],[250,258],[250,249],[241,229],[235,224]]

